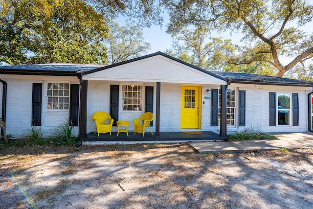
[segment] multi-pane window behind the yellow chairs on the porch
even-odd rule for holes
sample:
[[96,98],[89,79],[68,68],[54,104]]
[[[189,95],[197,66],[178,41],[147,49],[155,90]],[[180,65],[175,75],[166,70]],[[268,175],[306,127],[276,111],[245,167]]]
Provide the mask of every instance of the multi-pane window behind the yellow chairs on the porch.
[[123,111],[142,111],[142,86],[123,85]]

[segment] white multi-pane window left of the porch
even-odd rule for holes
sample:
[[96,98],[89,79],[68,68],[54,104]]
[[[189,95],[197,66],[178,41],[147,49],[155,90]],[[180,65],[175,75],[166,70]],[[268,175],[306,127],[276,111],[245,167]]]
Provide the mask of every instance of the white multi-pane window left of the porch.
[[69,83],[48,83],[47,101],[48,110],[69,110]]

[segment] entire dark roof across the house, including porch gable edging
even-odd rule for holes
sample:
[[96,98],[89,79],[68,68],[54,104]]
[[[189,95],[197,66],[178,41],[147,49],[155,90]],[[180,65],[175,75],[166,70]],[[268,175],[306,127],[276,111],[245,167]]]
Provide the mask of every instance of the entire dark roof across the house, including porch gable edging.
[[111,66],[92,65],[92,64],[36,64],[36,65],[20,65],[20,66],[0,66],[0,74],[27,74],[27,75],[66,75],[76,76],[79,71],[83,74],[89,74],[100,70],[106,70],[115,66],[124,65],[137,60],[162,55],[169,59],[175,60],[179,63],[189,67],[201,70],[212,76],[222,80],[228,80],[228,83],[243,83],[243,84],[263,84],[263,85],[285,85],[285,86],[308,86],[313,87],[312,81],[303,81],[290,78],[279,78],[268,75],[241,73],[241,72],[224,72],[224,71],[206,71],[191,64],[185,63],[177,58],[171,57],[162,52],[145,55],[142,57],[127,60],[121,63],[116,63]]

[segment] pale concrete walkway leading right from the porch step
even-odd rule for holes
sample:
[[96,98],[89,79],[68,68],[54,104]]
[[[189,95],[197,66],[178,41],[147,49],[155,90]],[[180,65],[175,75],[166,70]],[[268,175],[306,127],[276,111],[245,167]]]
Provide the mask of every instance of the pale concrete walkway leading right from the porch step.
[[251,140],[251,141],[213,141],[213,142],[190,142],[189,145],[199,153],[246,153],[254,150],[274,150],[280,148],[297,149],[313,148],[313,133],[270,133],[278,140]]

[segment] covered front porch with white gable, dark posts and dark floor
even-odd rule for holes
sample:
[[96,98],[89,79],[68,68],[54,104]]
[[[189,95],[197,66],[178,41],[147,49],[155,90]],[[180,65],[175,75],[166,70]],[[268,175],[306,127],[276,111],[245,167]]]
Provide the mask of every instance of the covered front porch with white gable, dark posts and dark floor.
[[[159,52],[112,66],[80,72],[78,77],[81,83],[79,139],[82,142],[223,140],[226,137],[227,80],[208,71],[179,62],[179,60]],[[138,100],[140,100],[139,110],[128,109],[128,106],[124,107],[125,101],[128,101],[124,97],[131,98],[134,95],[130,94],[131,96],[129,96],[133,90],[128,92],[128,87],[140,89],[136,94],[140,96],[134,96],[135,99],[139,98]],[[202,99],[206,95],[204,89],[209,91],[210,88],[217,89],[219,87],[221,89],[221,120],[217,127],[218,109],[211,110],[210,104],[213,102],[214,107],[217,107],[219,104],[218,92],[214,92],[213,100],[204,101]],[[186,100],[192,96],[189,94],[186,96],[184,88],[195,89],[190,90],[190,92],[195,92],[190,94],[194,100]],[[186,105],[187,103],[188,105]],[[194,112],[186,114],[182,112],[188,108]],[[129,137],[125,135],[125,138],[122,138],[123,135],[115,137],[116,133],[112,133],[112,136],[97,137],[91,132],[95,129],[91,116],[97,111],[109,113],[114,121],[130,122],[144,112],[152,112],[155,115],[154,135],[149,136],[147,133],[143,138],[140,135],[130,134]],[[215,117],[213,118],[212,115]],[[187,116],[186,120],[192,121],[193,124],[185,125],[185,121],[181,121],[180,118],[185,119]],[[215,132],[218,129],[220,130],[219,134]],[[132,127],[129,127],[129,130],[132,130]],[[186,134],[183,132],[184,130],[199,130],[202,133]]]

